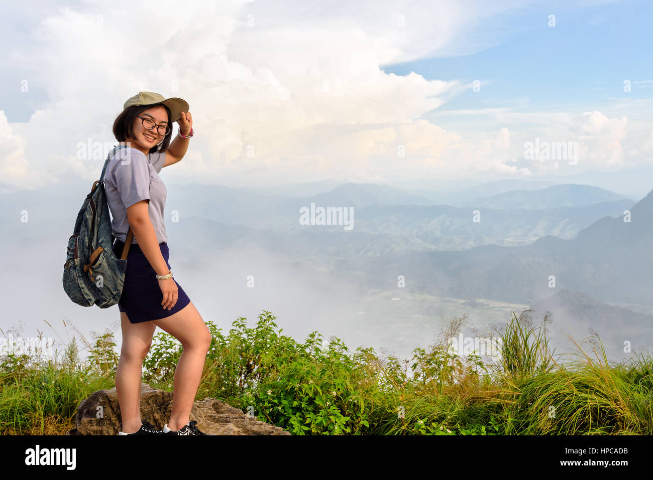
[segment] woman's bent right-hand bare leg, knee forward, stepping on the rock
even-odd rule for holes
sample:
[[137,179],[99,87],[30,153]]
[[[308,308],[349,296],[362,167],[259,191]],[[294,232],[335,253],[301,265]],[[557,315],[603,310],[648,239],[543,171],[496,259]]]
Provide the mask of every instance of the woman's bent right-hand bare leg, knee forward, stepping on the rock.
[[182,355],[174,370],[172,413],[168,421],[168,428],[179,430],[191,417],[206,353],[211,346],[211,333],[192,301],[179,312],[151,323],[155,323],[157,327],[182,342]]

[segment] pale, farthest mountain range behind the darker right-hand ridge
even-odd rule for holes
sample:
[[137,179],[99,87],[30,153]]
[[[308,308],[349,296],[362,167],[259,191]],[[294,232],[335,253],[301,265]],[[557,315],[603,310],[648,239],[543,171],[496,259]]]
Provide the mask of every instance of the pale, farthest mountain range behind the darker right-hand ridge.
[[[633,201],[619,199],[600,188],[586,191],[584,185],[562,186],[558,203],[579,200],[580,206],[533,209],[492,209],[483,207],[481,222],[472,222],[472,207],[434,205],[434,202],[387,185],[346,183],[330,192],[308,198],[291,198],[222,186],[198,184],[168,188],[167,209],[178,211],[180,218],[202,217],[221,224],[240,225],[283,233],[342,232],[342,226],[305,226],[299,223],[301,207],[353,207],[354,230],[379,235],[368,237],[368,255],[381,251],[402,253],[428,250],[462,250],[479,245],[526,245],[543,235],[570,239],[581,228],[605,215],[622,215]],[[553,188],[553,187],[548,187]],[[545,188],[543,190],[548,190]],[[543,190],[522,191],[537,198],[550,198]],[[539,200],[530,203],[535,206]],[[546,204],[546,202],[543,202]],[[551,203],[551,202],[550,202]],[[354,232],[346,232],[354,233]],[[349,239],[352,237],[350,235]],[[381,243],[389,247],[381,247]],[[340,240],[336,241],[340,244]],[[372,248],[372,244],[379,247]],[[407,248],[407,249],[406,249]],[[346,248],[342,252],[347,256]]]

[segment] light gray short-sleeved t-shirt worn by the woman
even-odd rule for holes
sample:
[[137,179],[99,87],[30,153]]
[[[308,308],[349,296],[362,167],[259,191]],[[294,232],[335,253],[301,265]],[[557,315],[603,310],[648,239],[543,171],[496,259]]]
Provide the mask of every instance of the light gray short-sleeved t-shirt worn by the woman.
[[[121,151],[121,153],[118,153]],[[163,208],[168,193],[159,172],[165,163],[165,152],[150,153],[147,157],[132,147],[122,148],[109,159],[104,172],[104,192],[111,211],[111,232],[120,241],[127,239],[129,222],[127,208],[141,200],[148,202],[150,220],[159,243],[167,242],[163,224]],[[131,244],[138,244],[133,237]]]

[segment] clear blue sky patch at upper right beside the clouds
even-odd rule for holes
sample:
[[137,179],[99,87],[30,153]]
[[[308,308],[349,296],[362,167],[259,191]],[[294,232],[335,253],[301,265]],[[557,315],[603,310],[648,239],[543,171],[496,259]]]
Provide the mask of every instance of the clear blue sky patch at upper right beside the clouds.
[[[556,16],[555,27],[547,25],[549,14]],[[626,95],[626,79],[631,80],[630,98],[652,98],[652,83],[634,83],[653,80],[652,20],[650,1],[534,5],[496,16],[475,32],[479,40],[503,37],[496,46],[381,68],[397,75],[413,71],[428,79],[481,80],[480,92],[458,95],[439,110],[602,106]]]

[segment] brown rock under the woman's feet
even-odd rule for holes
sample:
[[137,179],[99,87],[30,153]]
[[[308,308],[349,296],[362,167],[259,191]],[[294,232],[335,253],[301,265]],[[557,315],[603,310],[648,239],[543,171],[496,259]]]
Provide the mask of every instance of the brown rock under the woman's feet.
[[[172,392],[140,385],[140,417],[163,429],[172,412]],[[206,397],[193,404],[191,420],[206,434],[215,435],[290,435],[281,427],[261,422],[246,415],[240,408]],[[121,428],[116,387],[98,390],[77,407],[75,425],[69,435],[118,435]]]

